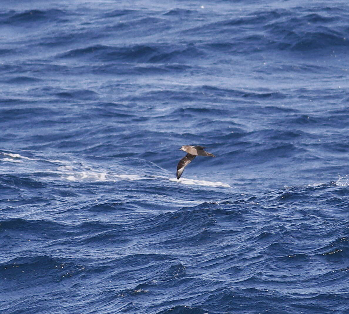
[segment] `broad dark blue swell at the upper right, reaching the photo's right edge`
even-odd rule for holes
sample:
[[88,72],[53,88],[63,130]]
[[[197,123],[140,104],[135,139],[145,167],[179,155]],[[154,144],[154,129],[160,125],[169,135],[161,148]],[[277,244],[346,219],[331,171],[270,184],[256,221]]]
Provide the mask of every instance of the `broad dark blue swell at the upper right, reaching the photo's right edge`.
[[[328,16],[321,8],[314,8],[314,11],[317,12],[305,14],[302,7],[255,11],[233,19],[203,23],[182,33],[205,39],[205,46],[200,48],[222,53],[256,53],[273,49],[314,52],[347,47],[347,29],[337,26],[336,18]],[[214,36],[217,33],[220,41]]]

